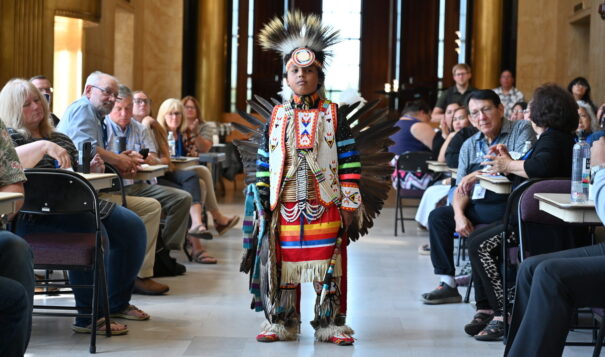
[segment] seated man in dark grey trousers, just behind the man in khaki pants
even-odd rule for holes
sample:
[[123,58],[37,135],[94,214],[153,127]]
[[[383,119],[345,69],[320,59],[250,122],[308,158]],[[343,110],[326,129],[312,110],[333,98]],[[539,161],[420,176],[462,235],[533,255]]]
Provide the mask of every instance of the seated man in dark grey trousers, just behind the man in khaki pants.
[[[113,110],[105,117],[106,138],[108,143],[117,143],[119,138],[126,138],[126,151],[118,153],[120,148],[113,145],[108,150],[114,154],[124,155],[140,160],[140,163],[159,165],[162,162],[157,156],[155,143],[145,126],[136,120],[132,120],[132,91],[120,85],[118,90],[119,99]],[[143,160],[139,151],[149,149],[147,158]],[[129,196],[149,197],[160,202],[166,211],[166,225],[162,231],[164,246],[170,250],[180,250],[187,235],[187,224],[189,223],[189,207],[191,206],[191,195],[176,188],[150,185],[143,181],[124,180],[124,191]]]

